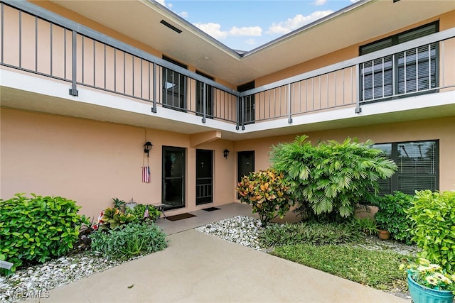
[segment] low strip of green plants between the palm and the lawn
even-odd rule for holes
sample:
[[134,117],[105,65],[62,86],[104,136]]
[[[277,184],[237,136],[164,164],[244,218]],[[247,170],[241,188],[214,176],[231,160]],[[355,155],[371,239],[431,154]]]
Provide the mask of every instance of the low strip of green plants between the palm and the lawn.
[[356,241],[363,233],[350,224],[301,222],[272,224],[259,233],[264,247],[307,243],[311,245],[340,244]]

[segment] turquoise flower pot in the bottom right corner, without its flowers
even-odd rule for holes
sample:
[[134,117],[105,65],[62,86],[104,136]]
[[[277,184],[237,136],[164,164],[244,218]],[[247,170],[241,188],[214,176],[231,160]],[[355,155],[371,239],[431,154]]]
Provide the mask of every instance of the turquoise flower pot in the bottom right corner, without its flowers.
[[432,290],[431,288],[419,285],[407,275],[407,285],[414,303],[452,303],[454,294],[449,290]]

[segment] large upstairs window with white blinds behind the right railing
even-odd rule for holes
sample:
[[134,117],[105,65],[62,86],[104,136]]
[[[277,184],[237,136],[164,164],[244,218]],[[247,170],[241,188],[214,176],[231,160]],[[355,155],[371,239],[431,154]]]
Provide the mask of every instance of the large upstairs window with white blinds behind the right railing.
[[[360,46],[360,55],[431,35],[438,30],[437,22],[414,28]],[[429,92],[438,86],[437,55],[437,43],[432,43],[360,64],[360,101]]]

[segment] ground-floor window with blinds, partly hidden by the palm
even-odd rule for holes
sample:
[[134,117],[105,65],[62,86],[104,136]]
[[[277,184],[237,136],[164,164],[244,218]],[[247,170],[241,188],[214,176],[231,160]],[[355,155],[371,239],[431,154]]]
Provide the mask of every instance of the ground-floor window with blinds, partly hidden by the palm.
[[380,180],[380,195],[395,190],[414,194],[416,190],[439,189],[439,141],[375,144],[398,165],[390,179]]

